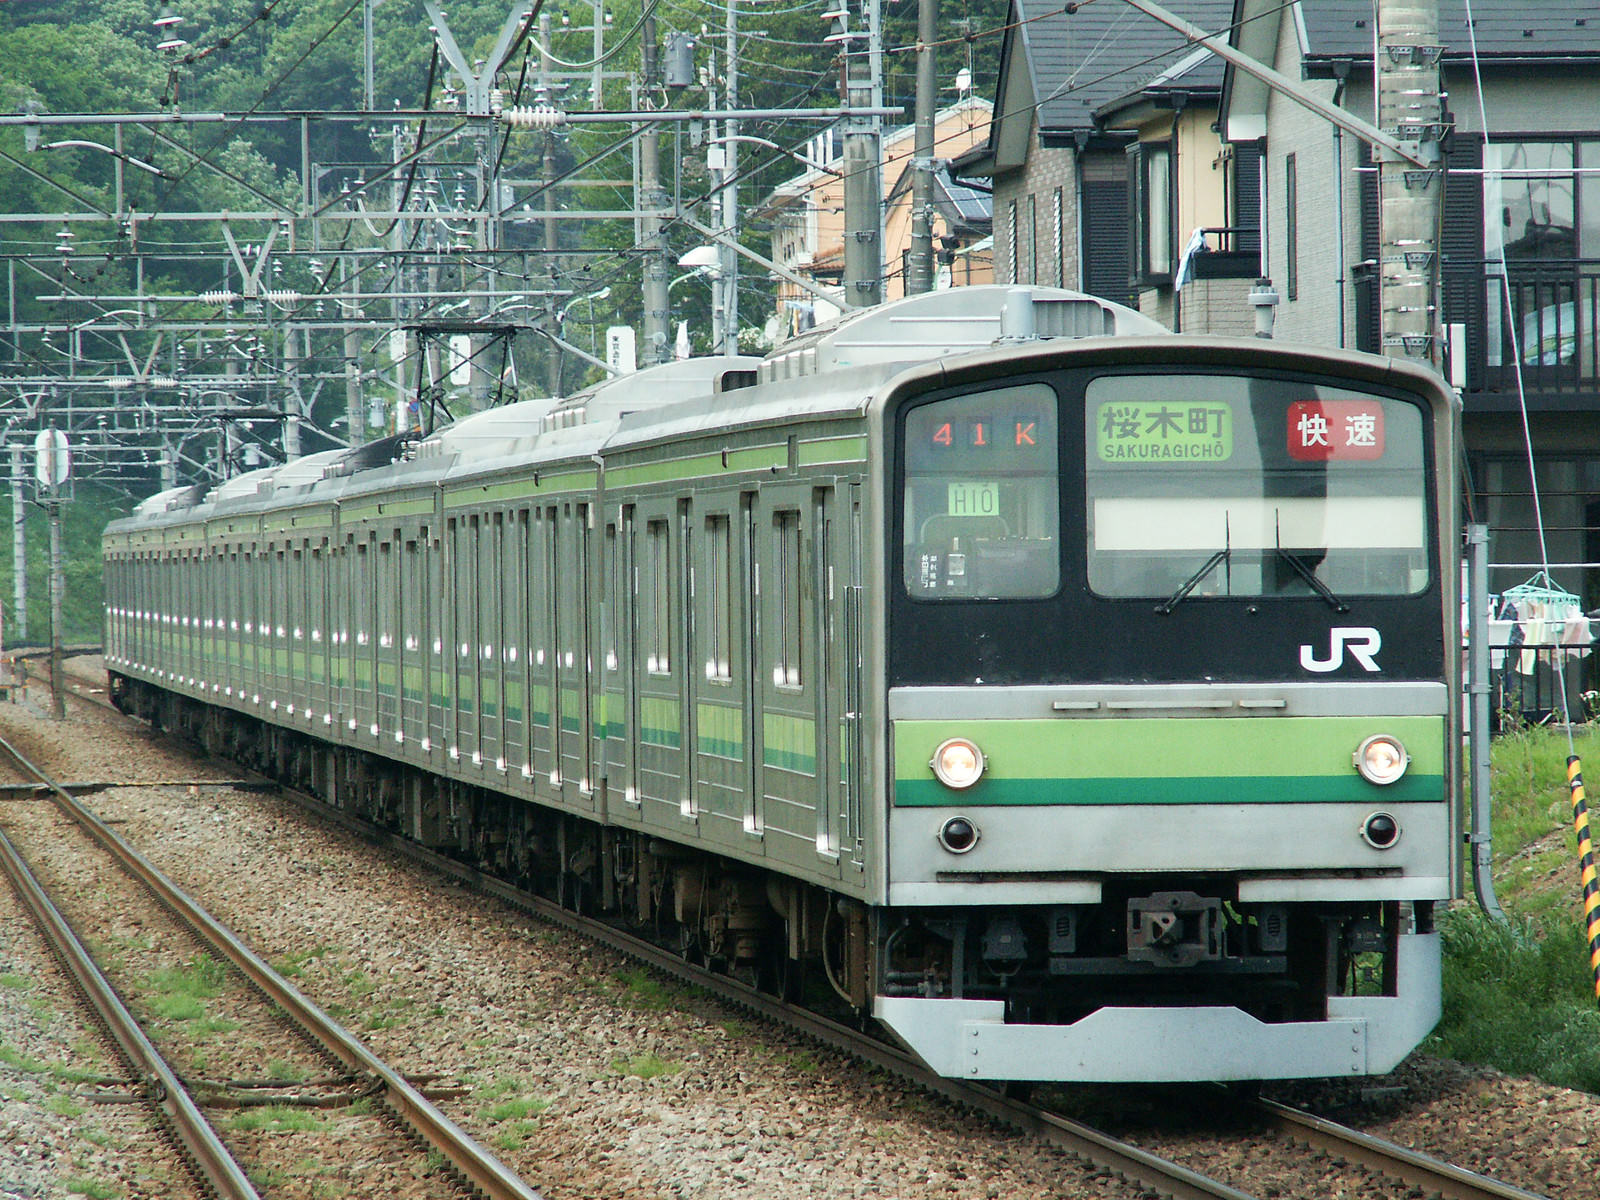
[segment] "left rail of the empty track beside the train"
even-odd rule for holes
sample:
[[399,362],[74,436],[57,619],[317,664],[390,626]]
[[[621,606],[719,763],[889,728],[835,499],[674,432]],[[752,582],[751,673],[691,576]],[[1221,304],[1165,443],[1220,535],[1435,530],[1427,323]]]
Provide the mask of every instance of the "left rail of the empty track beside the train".
[[[21,760],[21,755],[10,744],[0,741],[0,746]],[[78,990],[88,998],[94,1014],[106,1026],[106,1030],[115,1040],[118,1050],[122,1050],[128,1066],[133,1067],[133,1072],[142,1082],[146,1098],[166,1114],[173,1133],[182,1142],[184,1150],[189,1154],[203,1181],[216,1192],[219,1200],[261,1200],[261,1194],[250,1182],[250,1176],[234,1162],[234,1155],[227,1152],[216,1130],[211,1128],[205,1114],[200,1112],[194,1096],[189,1094],[182,1080],[178,1078],[178,1072],[166,1064],[166,1059],[150,1043],[150,1038],[139,1029],[139,1022],[133,1013],[122,1003],[110,981],[106,979],[94,965],[94,960],[90,958],[88,950],[83,949],[83,942],[72,933],[61,910],[51,904],[50,896],[45,894],[45,890],[34,878],[16,846],[11,845],[11,838],[3,832],[0,832],[0,866],[3,866],[5,874],[10,877],[16,894],[34,915],[34,922],[50,942],[51,950],[66,965]]]

